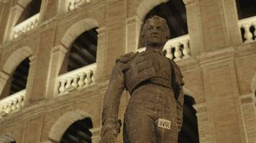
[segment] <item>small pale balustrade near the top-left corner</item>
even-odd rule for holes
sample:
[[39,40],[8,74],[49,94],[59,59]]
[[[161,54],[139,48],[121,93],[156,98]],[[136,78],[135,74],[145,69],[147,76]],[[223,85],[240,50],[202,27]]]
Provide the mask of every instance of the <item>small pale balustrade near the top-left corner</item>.
[[29,17],[29,19],[22,21],[22,23],[18,24],[17,26],[14,26],[14,29],[13,29],[14,39],[31,29],[35,29],[39,21],[39,16],[40,16],[40,13],[35,14],[34,16]]

